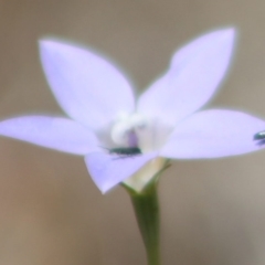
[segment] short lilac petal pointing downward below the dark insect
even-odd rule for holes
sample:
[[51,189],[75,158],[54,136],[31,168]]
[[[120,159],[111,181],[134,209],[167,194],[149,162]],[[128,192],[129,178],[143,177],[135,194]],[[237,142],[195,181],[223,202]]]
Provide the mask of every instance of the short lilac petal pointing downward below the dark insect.
[[105,152],[92,152],[85,158],[92,179],[98,189],[106,191],[137,172],[144,165],[157,156],[157,152],[134,157],[120,157]]

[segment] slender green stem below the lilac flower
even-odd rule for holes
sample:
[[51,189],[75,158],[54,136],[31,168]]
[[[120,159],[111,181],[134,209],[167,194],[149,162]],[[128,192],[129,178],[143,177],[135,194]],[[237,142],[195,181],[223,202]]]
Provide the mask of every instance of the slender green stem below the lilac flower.
[[130,197],[138,226],[146,246],[148,265],[160,264],[159,252],[159,204],[157,183],[152,183],[144,192]]

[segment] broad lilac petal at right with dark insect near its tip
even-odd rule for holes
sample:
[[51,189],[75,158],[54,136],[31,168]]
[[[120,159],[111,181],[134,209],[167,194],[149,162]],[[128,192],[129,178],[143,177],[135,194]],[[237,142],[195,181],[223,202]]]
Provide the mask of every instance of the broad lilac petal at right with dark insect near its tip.
[[219,158],[261,149],[253,140],[265,121],[232,110],[200,112],[180,123],[160,156],[179,159]]

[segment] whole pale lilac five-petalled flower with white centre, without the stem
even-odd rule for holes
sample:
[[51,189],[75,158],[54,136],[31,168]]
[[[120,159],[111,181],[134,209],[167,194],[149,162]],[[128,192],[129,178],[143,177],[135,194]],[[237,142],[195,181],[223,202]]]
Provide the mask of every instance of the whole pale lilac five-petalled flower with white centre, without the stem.
[[[227,109],[199,110],[227,71],[234,39],[235,30],[224,29],[184,45],[137,103],[125,75],[107,60],[87,49],[42,40],[44,73],[68,118],[11,118],[0,123],[0,135],[85,156],[102,192],[123,181],[140,191],[166,159],[258,150],[253,136],[265,128],[263,120]],[[113,148],[139,148],[142,153],[124,156]]]

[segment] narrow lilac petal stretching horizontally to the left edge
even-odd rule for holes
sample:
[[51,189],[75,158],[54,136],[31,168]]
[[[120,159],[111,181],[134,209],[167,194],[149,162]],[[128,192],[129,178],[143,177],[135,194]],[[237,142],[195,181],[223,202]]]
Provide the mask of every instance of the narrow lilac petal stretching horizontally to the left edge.
[[25,116],[0,123],[0,135],[75,155],[98,148],[96,136],[80,124],[65,118]]

